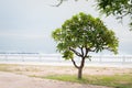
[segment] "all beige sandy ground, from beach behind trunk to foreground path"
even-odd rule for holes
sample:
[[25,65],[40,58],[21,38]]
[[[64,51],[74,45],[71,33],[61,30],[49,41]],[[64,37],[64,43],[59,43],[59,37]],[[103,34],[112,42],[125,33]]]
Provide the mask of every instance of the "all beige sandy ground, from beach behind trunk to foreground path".
[[[77,70],[74,67],[1,65],[0,70],[0,88],[111,88],[32,77],[65,74],[76,75]],[[132,73],[132,69],[106,67],[86,67],[84,69],[85,75],[116,75],[125,73]]]

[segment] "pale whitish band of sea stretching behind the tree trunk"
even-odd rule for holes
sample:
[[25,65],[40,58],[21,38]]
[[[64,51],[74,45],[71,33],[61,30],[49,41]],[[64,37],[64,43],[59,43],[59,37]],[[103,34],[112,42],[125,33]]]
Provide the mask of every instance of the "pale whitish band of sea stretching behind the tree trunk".
[[[80,65],[79,57],[75,56],[77,65]],[[65,59],[61,54],[38,53],[6,53],[0,54],[0,64],[23,64],[23,65],[52,65],[74,66],[70,59]],[[130,67],[132,68],[132,55],[94,55],[86,58],[86,66],[98,67]]]

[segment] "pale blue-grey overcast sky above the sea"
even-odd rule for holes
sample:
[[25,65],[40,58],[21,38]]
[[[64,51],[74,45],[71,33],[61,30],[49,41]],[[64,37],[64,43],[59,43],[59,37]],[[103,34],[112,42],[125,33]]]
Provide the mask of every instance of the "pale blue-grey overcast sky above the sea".
[[[61,7],[57,0],[0,0],[0,52],[56,53],[51,37],[53,30],[79,12],[99,16],[94,0],[65,1]],[[119,54],[132,54],[132,32],[125,18],[123,24],[113,16],[101,16],[105,24],[119,37]],[[102,53],[109,54],[109,53]]]

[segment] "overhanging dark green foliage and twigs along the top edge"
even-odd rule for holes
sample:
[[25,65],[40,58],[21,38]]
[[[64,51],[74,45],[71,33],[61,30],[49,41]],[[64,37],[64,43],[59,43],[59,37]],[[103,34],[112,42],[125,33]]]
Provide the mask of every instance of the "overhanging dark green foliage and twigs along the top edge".
[[[59,0],[59,3],[56,4],[56,7],[59,7],[64,1],[66,0]],[[121,21],[124,16],[129,16],[129,25],[130,30],[132,30],[132,0],[96,0],[96,2],[100,13],[107,14],[107,16],[114,15]]]

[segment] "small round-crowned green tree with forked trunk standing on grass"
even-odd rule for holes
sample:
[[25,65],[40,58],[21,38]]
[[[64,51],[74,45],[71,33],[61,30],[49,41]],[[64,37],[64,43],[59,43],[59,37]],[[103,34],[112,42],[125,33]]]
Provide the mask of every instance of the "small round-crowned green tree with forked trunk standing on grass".
[[[89,52],[108,50],[118,53],[118,38],[113,31],[108,30],[99,18],[90,14],[80,12],[74,15],[62,28],[53,31],[52,36],[57,43],[57,51],[78,69],[78,79],[81,79],[86,58],[90,59]],[[80,65],[76,64],[74,54],[80,57]]]

